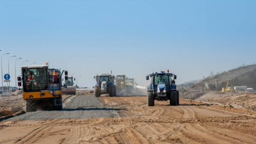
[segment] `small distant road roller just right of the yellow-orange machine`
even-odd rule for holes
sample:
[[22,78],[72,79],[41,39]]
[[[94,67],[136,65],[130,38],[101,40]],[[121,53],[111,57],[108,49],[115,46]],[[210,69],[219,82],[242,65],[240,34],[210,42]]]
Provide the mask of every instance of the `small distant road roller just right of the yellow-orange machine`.
[[68,77],[67,81],[65,80],[64,86],[66,86],[66,87],[62,88],[62,94],[75,95],[76,88],[74,86],[74,82],[73,81],[75,81],[75,78],[73,78],[73,76]]

